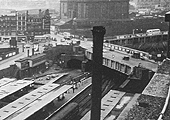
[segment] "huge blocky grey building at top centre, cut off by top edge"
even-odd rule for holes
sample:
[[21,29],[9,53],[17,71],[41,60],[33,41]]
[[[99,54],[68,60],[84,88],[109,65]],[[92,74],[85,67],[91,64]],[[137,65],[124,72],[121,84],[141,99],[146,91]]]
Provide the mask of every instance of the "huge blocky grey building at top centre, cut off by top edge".
[[129,0],[61,0],[61,19],[89,24],[128,19]]

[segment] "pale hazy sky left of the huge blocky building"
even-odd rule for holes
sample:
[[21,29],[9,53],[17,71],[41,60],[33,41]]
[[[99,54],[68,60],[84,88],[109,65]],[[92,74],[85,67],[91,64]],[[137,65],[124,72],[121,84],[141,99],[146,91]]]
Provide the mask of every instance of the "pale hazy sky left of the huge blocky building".
[[0,0],[0,9],[56,9],[59,10],[60,0]]

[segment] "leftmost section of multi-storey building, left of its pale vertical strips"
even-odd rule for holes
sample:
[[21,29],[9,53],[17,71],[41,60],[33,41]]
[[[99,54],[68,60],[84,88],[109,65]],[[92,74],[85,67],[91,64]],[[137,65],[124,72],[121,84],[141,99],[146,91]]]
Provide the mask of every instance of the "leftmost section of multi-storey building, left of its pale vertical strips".
[[16,14],[8,14],[0,16],[0,36],[1,40],[9,40],[16,36]]

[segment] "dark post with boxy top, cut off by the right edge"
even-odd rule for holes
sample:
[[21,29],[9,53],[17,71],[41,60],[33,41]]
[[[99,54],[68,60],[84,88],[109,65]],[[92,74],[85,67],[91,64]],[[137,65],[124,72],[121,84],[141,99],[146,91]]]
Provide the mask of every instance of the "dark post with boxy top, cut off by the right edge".
[[170,59],[170,12],[165,14],[165,22],[169,22],[167,58]]

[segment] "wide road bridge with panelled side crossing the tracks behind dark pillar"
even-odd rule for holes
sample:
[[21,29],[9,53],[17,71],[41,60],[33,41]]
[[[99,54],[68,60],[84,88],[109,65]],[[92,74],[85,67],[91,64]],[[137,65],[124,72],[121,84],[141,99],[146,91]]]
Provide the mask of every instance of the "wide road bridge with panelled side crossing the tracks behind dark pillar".
[[[87,59],[92,60],[92,41],[81,41],[80,46],[85,49]],[[131,74],[135,66],[156,72],[158,63],[149,56],[147,52],[107,43],[103,48],[103,65],[127,75]]]

